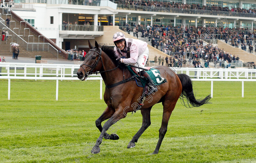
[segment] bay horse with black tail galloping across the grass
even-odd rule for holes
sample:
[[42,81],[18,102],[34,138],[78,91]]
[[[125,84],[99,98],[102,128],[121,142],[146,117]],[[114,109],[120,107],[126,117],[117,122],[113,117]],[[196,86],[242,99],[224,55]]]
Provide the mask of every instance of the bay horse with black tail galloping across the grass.
[[[85,56],[84,62],[80,65],[80,68],[76,73],[77,77],[80,80],[85,80],[90,74],[99,71],[106,85],[104,101],[107,104],[107,108],[96,120],[96,127],[99,129],[101,134],[97,139],[93,149],[91,150],[92,154],[96,154],[100,152],[99,146],[103,137],[105,139],[107,138],[111,140],[119,139],[117,134],[114,133],[109,135],[106,131],[108,131],[108,129],[117,121],[125,118],[128,112],[136,111],[134,104],[137,104],[137,99],[141,98],[143,88],[137,87],[134,80],[108,88],[107,86],[113,86],[113,84],[130,77],[130,72],[126,68],[119,66],[120,64],[116,61],[117,58],[112,47],[102,46],[99,48],[97,41],[95,41],[95,47],[91,45],[89,40],[88,44],[90,50]],[[143,119],[142,126],[133,136],[127,148],[135,147],[135,143],[138,141],[141,134],[151,124],[151,108],[153,105],[162,102],[162,125],[159,129],[158,143],[156,145],[155,151],[152,153],[158,154],[162,140],[167,131],[169,118],[177,100],[179,98],[183,99],[183,104],[186,107],[199,107],[203,104],[209,103],[211,97],[208,95],[202,100],[197,100],[193,93],[192,80],[186,74],[176,74],[166,66],[156,66],[154,68],[160,71],[161,76],[164,77],[167,82],[159,85],[157,92],[146,96],[148,98],[144,101],[144,104],[140,108]],[[184,99],[187,100],[188,106],[185,104]],[[101,122],[107,119],[108,121],[106,121],[102,127]]]

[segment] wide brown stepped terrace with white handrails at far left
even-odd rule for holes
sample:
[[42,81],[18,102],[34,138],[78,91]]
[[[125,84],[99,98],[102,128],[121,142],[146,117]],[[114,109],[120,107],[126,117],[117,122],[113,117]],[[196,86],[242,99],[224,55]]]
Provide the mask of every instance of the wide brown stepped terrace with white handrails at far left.
[[[7,15],[6,15],[7,14]],[[2,13],[2,20],[0,18],[0,28],[1,28],[1,41],[0,41],[0,54],[1,56],[12,56],[12,43],[18,43],[19,46],[19,56],[23,57],[35,57],[35,55],[40,55],[42,58],[49,58],[49,59],[56,59],[56,58],[62,58],[64,57],[58,53],[58,50],[53,48],[49,43],[44,43],[44,37],[40,36],[38,38],[38,35],[34,33],[33,31],[30,31],[30,28],[25,22],[20,22],[17,19],[15,19],[15,16],[13,14],[8,14],[5,11]],[[6,25],[6,18],[10,18],[10,28],[7,28]],[[2,41],[2,30],[8,30],[9,35],[7,37],[7,41]],[[13,32],[12,32],[12,31]],[[36,30],[36,29],[34,29]],[[18,36],[17,36],[18,35]],[[20,37],[19,37],[20,36]],[[22,39],[24,40],[22,40]],[[28,43],[26,43],[26,42]],[[58,56],[59,55],[59,56]]]

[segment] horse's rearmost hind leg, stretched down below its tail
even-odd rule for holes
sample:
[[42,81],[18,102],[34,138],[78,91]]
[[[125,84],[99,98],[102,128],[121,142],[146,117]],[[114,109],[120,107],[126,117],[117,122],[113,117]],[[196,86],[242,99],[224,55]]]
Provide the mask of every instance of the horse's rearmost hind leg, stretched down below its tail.
[[[172,110],[174,109],[176,102],[173,102],[171,104],[166,104],[164,105],[164,112],[163,112],[163,118],[162,118],[162,125],[159,129],[159,139],[155,148],[155,151],[152,153],[152,155],[154,154],[158,154],[159,148],[162,144],[163,138],[165,137],[165,133],[167,131],[167,126],[168,126],[168,121],[170,119],[170,116],[172,114]],[[165,103],[165,102],[163,102]]]

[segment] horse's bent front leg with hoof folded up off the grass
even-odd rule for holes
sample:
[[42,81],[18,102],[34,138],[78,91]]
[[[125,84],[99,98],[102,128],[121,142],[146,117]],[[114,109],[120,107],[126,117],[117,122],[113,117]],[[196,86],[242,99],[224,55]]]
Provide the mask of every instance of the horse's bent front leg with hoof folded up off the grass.
[[[106,119],[110,118],[115,113],[115,110],[107,107],[104,112],[101,114],[101,116],[95,121],[96,127],[99,129],[100,132],[102,132],[102,126],[101,122],[105,121]],[[107,135],[108,133],[105,133],[104,138],[109,138],[110,140],[118,140],[119,136],[117,134],[111,134]]]

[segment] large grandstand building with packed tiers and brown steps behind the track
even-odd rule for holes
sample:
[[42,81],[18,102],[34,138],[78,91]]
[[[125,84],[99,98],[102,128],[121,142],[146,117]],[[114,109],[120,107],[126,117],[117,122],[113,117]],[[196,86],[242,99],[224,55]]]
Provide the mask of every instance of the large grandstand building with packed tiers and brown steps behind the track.
[[[188,61],[208,59],[211,66],[224,59],[233,63],[234,55],[256,62],[254,1],[14,0],[3,2],[0,11],[1,30],[11,35],[0,42],[4,55],[12,55],[10,44],[16,42],[21,56],[68,59],[66,50],[87,52],[88,39],[114,46],[112,35],[121,31],[148,42],[149,60],[178,59],[180,53]],[[193,66],[192,60],[184,66]]]

